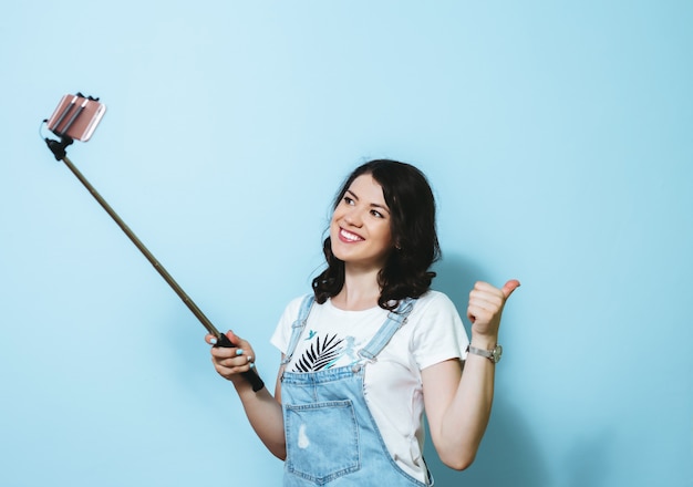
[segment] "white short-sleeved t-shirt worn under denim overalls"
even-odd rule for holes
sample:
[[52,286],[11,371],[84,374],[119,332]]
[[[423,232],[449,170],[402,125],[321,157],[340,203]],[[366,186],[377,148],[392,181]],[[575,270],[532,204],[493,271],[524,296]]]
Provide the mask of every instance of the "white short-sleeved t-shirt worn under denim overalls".
[[[301,298],[286,308],[271,343],[287,352],[291,324]],[[317,372],[350,365],[387,319],[387,311],[375,307],[344,311],[330,300],[314,304],[298,342],[289,372]],[[421,370],[449,359],[463,359],[469,343],[453,302],[442,292],[428,291],[412,310],[406,323],[365,369],[366,403],[397,465],[425,483],[423,462],[424,411]]]

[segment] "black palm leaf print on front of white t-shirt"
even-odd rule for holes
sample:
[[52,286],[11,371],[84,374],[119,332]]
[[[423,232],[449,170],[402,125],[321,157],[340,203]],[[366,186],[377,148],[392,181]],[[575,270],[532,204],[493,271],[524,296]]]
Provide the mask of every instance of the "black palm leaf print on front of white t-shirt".
[[344,358],[350,359],[350,362],[355,359],[353,336],[340,338],[337,333],[319,335],[309,330],[304,341],[309,341],[310,344],[294,362],[293,372],[318,372],[331,369]]

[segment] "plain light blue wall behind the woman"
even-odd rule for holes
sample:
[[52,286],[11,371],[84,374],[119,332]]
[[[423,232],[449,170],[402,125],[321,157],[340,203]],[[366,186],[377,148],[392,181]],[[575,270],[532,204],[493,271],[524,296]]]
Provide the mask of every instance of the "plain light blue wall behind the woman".
[[[71,159],[217,324],[268,340],[371,157],[428,176],[464,312],[506,309],[476,464],[438,485],[691,486],[693,4],[6,2],[0,485],[272,486],[281,463],[204,330],[53,159]],[[433,458],[435,455],[430,453]]]

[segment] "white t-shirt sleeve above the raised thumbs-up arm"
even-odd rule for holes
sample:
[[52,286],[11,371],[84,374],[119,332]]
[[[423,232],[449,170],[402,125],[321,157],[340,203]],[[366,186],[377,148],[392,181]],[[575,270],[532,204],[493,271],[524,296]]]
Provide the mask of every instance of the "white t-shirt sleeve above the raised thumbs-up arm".
[[426,298],[420,299],[423,302],[410,317],[415,321],[411,345],[418,369],[451,359],[464,360],[469,339],[455,304],[442,292],[431,292]]

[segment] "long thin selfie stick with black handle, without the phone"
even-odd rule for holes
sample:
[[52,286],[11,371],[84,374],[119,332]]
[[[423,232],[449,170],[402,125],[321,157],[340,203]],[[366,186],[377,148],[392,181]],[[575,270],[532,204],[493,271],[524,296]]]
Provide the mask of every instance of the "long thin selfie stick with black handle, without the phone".
[[[66,132],[66,128],[63,132]],[[164,269],[164,266],[162,266],[158,262],[158,260],[154,258],[152,252],[144,246],[144,244],[142,244],[142,241],[130,229],[130,227],[125,225],[125,221],[123,221],[123,219],[113,210],[113,208],[111,208],[111,206],[106,203],[106,200],[103,199],[103,197],[99,194],[99,191],[96,191],[96,189],[90,184],[90,182],[86,180],[86,178],[82,175],[82,173],[80,173],[80,170],[74,166],[74,164],[72,164],[72,162],[68,158],[68,155],[65,154],[65,147],[72,144],[73,139],[65,135],[60,135],[60,134],[56,134],[56,135],[60,136],[61,138],[60,142],[45,138],[45,143],[48,144],[48,147],[51,149],[51,152],[55,156],[55,159],[62,160],[63,163],[65,163],[65,165],[72,172],[72,174],[74,174],[76,178],[80,179],[80,182],[84,185],[84,187],[92,194],[94,199],[96,199],[96,201],[99,201],[99,204],[103,207],[103,209],[105,209],[106,213],[111,215],[111,218],[115,220],[118,227],[121,227],[121,229],[125,232],[125,235],[127,235],[127,237],[132,240],[132,242],[135,244],[135,247],[137,247],[139,251],[144,255],[144,257],[147,258],[149,263],[154,266],[154,269],[156,269],[158,273],[164,278],[164,280],[168,282],[168,286],[170,286],[170,288],[176,292],[176,294],[178,294],[178,297],[183,300],[183,302],[190,309],[193,314],[195,314],[195,317],[200,321],[200,323],[203,323],[203,325],[207,329],[207,331],[217,339],[217,343],[215,346],[224,346],[224,348],[236,346],[231,343],[228,336],[220,333],[219,330],[217,330],[216,327],[211,324],[211,321],[209,321],[209,319],[205,315],[205,313],[203,313],[201,310],[197,307],[197,304],[193,302],[193,300],[186,294],[183,288],[178,286],[178,283],[168,273],[168,271]],[[265,383],[262,382],[260,376],[256,372],[254,372],[254,370],[242,372],[241,375],[244,379],[250,382],[250,384],[252,384],[252,391],[258,392],[262,387],[265,387]]]

